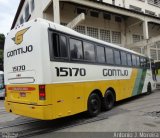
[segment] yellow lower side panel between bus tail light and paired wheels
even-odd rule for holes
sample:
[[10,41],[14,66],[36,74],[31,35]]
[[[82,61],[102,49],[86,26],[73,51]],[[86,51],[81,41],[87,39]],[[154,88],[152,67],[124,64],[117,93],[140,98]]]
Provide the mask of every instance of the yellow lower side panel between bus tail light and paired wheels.
[[73,115],[83,112],[84,89],[83,83],[49,84],[54,118]]

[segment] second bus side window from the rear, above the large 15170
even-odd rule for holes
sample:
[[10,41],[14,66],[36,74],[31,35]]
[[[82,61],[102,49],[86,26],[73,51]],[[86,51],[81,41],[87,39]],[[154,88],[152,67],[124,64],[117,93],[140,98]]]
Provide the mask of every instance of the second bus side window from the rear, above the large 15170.
[[70,39],[71,59],[83,59],[82,41]]

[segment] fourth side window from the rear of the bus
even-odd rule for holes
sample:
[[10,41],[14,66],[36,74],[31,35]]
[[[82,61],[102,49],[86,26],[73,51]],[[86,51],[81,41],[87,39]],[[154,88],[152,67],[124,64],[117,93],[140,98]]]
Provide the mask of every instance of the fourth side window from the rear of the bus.
[[97,62],[98,63],[104,63],[105,62],[105,51],[104,47],[97,46]]

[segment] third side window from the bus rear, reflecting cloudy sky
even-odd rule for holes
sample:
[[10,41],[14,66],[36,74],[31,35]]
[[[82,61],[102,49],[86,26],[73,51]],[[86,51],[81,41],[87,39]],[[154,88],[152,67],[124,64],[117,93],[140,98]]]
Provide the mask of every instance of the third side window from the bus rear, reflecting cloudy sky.
[[84,59],[89,61],[95,61],[94,45],[91,43],[84,42],[83,49],[84,49]]

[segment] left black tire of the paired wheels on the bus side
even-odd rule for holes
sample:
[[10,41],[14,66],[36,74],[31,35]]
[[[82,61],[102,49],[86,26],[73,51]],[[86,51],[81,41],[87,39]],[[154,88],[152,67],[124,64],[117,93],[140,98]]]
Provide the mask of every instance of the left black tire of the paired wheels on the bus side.
[[89,117],[95,117],[101,111],[101,100],[98,94],[92,93],[88,98],[88,105],[87,105],[87,115]]

